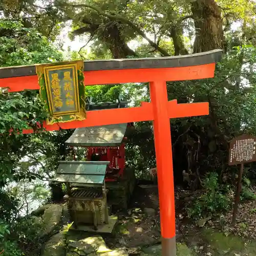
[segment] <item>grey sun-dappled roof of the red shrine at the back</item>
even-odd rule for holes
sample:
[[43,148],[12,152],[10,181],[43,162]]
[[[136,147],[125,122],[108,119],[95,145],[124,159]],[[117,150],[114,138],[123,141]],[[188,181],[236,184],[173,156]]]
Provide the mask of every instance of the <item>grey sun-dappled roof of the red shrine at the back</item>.
[[67,146],[120,146],[127,123],[77,128],[65,142]]

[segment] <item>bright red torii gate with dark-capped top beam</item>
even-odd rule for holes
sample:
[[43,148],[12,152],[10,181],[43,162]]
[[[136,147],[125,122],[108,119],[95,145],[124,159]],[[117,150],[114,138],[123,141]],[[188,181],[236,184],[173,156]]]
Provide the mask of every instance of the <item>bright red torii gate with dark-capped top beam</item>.
[[[55,123],[47,131],[74,129],[115,123],[151,121],[154,124],[158,190],[162,235],[162,255],[176,255],[175,196],[170,118],[208,115],[208,102],[177,104],[168,101],[166,81],[193,80],[214,77],[215,63],[222,50],[205,53],[143,59],[84,61],[84,84],[149,82],[151,102],[140,107],[88,111],[87,119]],[[38,90],[36,65],[0,68],[0,87],[9,92]],[[25,130],[23,133],[33,133]]]

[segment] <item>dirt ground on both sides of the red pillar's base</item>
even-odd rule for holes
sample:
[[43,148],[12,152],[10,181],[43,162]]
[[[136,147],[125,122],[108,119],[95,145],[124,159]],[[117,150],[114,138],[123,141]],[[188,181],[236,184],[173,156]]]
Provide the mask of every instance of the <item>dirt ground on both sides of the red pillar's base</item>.
[[[238,223],[240,217],[249,221],[252,225],[246,224],[250,232],[245,232],[248,236],[243,236],[234,228],[225,233],[219,231],[218,221],[209,221],[204,227],[198,227],[193,221],[183,218],[184,201],[180,200],[180,189],[176,191],[176,237],[177,242],[184,243],[191,251],[190,255],[202,256],[255,256],[256,243],[250,241],[250,233],[255,233],[255,212],[256,202],[247,202],[240,205],[238,212]],[[186,191],[182,191],[186,193]],[[244,215],[245,208],[250,208],[250,215]],[[138,185],[135,188],[127,212],[117,212],[119,222],[115,228],[114,236],[106,238],[105,242],[110,248],[129,248],[129,255],[139,255],[136,253],[138,247],[145,247],[160,244],[160,217],[157,185]],[[229,219],[230,212],[227,214]],[[245,216],[245,217],[244,217]],[[242,218],[242,217],[241,217]],[[243,219],[244,220],[244,219]],[[226,221],[228,223],[228,220]],[[237,224],[237,226],[241,224]],[[245,228],[245,227],[244,227]],[[233,231],[233,232],[231,232]],[[231,234],[234,233],[234,234]],[[238,236],[240,234],[240,236]]]

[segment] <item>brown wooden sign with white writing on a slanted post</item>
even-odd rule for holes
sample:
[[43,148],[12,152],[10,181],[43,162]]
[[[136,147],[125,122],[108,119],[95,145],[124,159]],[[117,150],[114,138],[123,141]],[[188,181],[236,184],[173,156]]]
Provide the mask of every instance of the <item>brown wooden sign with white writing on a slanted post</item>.
[[238,174],[238,184],[236,199],[234,201],[233,217],[231,225],[236,223],[240,193],[242,190],[242,177],[244,163],[256,161],[256,137],[251,135],[241,135],[230,142],[228,165],[241,164]]

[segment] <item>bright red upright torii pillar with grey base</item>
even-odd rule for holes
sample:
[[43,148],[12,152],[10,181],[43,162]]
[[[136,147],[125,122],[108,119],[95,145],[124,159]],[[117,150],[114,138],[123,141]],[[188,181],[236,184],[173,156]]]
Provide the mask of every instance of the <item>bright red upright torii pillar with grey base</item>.
[[162,234],[162,255],[176,255],[173,154],[165,81],[150,82],[154,115],[158,194]]

